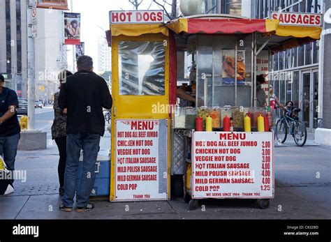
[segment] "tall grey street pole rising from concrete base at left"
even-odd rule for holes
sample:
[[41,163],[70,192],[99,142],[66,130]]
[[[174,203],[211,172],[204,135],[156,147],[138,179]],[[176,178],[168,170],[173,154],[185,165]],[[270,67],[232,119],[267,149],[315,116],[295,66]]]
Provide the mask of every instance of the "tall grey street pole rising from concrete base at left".
[[34,3],[34,0],[27,0],[28,130],[35,130],[35,42],[32,37],[32,6]]

